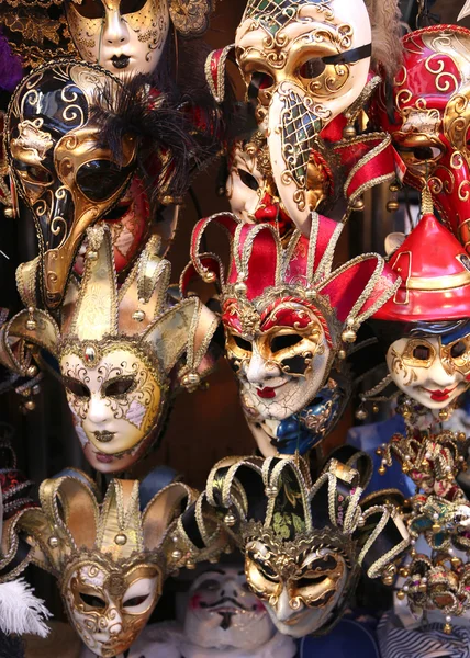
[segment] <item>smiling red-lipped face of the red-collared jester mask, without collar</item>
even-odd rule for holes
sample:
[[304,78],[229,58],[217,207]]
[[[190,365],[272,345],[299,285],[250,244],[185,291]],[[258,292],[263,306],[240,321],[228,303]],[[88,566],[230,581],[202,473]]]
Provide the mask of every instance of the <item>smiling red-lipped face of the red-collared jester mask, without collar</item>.
[[[291,306],[293,322],[310,316],[303,332],[293,325],[278,326],[246,340],[226,328],[227,358],[237,372],[248,419],[283,420],[312,401],[324,383],[331,361],[324,330],[311,310]],[[277,317],[281,309],[276,309]]]

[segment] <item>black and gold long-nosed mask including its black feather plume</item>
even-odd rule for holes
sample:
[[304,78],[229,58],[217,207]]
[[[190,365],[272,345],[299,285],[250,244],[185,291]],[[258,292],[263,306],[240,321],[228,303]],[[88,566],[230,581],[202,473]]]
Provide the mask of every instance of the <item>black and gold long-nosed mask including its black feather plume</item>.
[[[5,125],[10,174],[23,202],[23,224],[36,229],[41,263],[35,266],[49,309],[64,299],[87,227],[107,214],[112,220],[137,164],[147,174],[144,149],[153,152],[147,174],[156,190],[153,201],[179,196],[188,183],[184,161],[193,141],[182,113],[164,94],[150,106],[138,80],[124,87],[98,67],[63,60],[35,69],[13,93]],[[149,181],[144,181],[141,174],[130,186],[128,215],[138,213],[139,228],[120,259],[123,266],[150,219],[142,196],[142,184]],[[121,226],[127,220],[121,217]],[[120,254],[122,231],[115,234]]]

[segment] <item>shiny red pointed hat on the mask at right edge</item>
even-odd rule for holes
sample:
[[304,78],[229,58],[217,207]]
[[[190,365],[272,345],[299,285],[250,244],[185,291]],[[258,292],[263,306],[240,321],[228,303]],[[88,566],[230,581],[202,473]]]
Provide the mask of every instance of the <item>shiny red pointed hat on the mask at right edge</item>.
[[423,215],[390,265],[402,283],[373,319],[418,322],[470,316],[470,258],[432,213]]

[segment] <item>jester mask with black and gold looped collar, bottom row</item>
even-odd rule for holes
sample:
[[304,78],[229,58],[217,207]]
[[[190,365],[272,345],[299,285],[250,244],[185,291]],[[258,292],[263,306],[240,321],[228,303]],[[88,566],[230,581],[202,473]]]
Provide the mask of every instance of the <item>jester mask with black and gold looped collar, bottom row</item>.
[[407,546],[401,518],[383,497],[360,504],[365,483],[354,466],[363,458],[331,460],[312,483],[299,456],[226,457],[208,478],[206,499],[225,514],[248,586],[286,635],[326,633],[340,619],[360,567],[370,578],[387,578]]

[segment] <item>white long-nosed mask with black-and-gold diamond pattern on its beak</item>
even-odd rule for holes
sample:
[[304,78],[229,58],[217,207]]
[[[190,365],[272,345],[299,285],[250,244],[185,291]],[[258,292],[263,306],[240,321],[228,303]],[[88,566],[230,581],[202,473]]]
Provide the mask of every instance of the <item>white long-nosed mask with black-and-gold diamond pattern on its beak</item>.
[[307,194],[312,148],[367,82],[369,14],[362,0],[249,0],[235,46],[282,203],[302,227],[317,206]]

